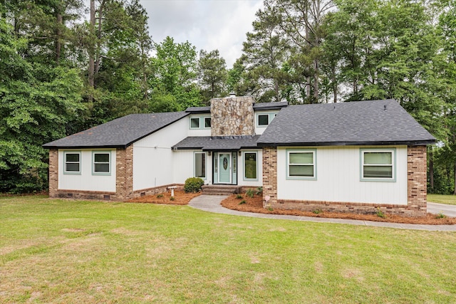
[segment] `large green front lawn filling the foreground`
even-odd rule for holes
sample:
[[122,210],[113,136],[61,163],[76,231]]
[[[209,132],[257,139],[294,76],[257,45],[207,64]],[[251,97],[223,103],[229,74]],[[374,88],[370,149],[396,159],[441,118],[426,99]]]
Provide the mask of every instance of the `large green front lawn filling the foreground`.
[[0,303],[452,303],[456,234],[0,198]]

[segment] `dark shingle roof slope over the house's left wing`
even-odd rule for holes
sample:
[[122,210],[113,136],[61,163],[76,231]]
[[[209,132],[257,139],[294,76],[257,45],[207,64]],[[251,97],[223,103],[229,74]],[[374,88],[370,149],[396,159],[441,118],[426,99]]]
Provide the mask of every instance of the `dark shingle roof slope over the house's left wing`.
[[103,125],[48,142],[44,148],[128,147],[133,142],[172,124],[187,112],[131,114]]

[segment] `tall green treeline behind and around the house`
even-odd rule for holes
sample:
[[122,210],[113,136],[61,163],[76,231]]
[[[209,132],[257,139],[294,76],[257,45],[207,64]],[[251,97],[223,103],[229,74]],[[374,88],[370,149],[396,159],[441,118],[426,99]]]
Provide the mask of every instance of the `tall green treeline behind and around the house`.
[[[139,0],[0,1],[0,192],[46,188],[41,145],[116,117],[210,98],[395,98],[440,144],[429,191],[456,174],[456,1],[265,0],[243,53],[152,41]],[[331,126],[327,126],[331,130]]]

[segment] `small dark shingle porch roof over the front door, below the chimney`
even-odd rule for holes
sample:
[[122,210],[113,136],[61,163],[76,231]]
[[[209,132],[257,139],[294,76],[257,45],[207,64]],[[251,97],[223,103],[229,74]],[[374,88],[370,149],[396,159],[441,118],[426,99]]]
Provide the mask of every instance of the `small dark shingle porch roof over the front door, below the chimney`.
[[187,137],[172,148],[177,150],[202,149],[204,151],[232,151],[257,147],[258,139],[259,135]]

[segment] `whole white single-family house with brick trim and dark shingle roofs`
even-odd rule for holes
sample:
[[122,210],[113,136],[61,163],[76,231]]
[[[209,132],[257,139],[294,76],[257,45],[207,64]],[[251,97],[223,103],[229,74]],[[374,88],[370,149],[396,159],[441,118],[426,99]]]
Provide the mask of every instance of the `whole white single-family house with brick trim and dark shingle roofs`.
[[124,200],[188,177],[263,187],[274,209],[426,214],[426,146],[395,100],[288,105],[252,97],[133,114],[49,142],[49,195]]

